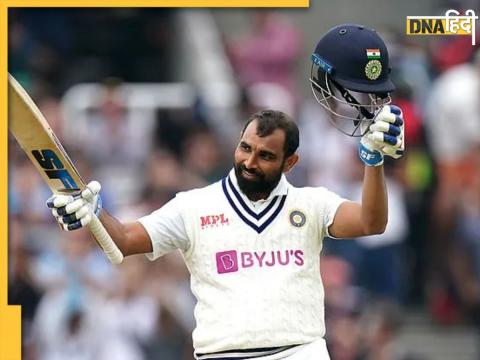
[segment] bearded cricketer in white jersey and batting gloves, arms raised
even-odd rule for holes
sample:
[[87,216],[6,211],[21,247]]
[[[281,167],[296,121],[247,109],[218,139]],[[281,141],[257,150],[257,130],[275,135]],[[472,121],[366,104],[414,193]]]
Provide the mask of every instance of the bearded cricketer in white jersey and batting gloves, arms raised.
[[98,182],[81,196],[57,195],[48,204],[65,230],[83,227],[97,214],[125,256],[144,253],[154,260],[181,251],[198,301],[196,359],[329,359],[322,240],[384,231],[382,164],[388,153],[383,149],[393,154],[403,147],[402,124],[400,110],[385,105],[362,138],[361,204],[323,187],[289,184],[284,174],[299,160],[299,132],[286,114],[274,110],[248,119],[234,168],[224,179],[178,193],[136,222],[122,224],[100,212]]

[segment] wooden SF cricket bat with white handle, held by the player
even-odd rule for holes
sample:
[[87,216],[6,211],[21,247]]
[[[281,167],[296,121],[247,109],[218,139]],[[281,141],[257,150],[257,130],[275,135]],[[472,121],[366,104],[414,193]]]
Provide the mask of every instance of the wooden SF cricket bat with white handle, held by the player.
[[[25,89],[8,74],[9,129],[55,194],[79,193],[86,184]],[[112,264],[123,254],[100,220],[93,215],[88,228]]]

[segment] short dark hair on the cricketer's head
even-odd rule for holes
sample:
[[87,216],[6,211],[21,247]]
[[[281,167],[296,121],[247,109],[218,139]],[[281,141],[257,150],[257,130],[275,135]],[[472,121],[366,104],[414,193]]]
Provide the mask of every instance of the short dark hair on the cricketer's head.
[[283,150],[285,157],[295,153],[300,143],[297,124],[284,112],[278,110],[262,110],[250,116],[242,130],[242,135],[252,121],[257,121],[257,135],[265,137],[273,133],[276,129],[282,129],[285,132],[285,144]]

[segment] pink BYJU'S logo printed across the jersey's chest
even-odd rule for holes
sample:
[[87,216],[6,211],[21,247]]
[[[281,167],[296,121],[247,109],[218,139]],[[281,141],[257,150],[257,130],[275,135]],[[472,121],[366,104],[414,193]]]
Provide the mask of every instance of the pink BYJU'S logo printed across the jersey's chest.
[[272,251],[222,251],[215,254],[217,273],[236,272],[240,268],[272,267],[272,266],[303,266],[302,250],[272,250]]

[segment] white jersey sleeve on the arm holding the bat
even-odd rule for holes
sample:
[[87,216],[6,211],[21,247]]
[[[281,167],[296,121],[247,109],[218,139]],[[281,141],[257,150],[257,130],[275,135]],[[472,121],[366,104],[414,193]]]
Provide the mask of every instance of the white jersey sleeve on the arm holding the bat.
[[182,201],[178,195],[138,221],[152,241],[153,251],[145,254],[149,260],[155,260],[177,249],[185,252],[190,247],[182,215]]

